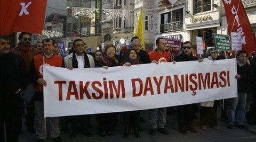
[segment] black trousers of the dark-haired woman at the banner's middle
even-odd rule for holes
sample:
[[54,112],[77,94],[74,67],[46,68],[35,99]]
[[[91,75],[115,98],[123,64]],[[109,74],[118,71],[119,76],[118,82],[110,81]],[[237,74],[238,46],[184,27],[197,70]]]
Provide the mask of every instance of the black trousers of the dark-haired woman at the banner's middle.
[[134,130],[138,131],[140,123],[140,111],[126,111],[123,112],[125,130],[130,130],[133,126]]

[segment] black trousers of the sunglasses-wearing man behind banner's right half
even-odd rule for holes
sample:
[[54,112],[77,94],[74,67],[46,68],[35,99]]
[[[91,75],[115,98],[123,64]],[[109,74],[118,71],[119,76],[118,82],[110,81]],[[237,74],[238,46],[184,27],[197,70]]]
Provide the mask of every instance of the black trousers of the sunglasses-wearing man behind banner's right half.
[[186,129],[193,125],[195,116],[195,104],[177,106],[177,120],[179,129]]

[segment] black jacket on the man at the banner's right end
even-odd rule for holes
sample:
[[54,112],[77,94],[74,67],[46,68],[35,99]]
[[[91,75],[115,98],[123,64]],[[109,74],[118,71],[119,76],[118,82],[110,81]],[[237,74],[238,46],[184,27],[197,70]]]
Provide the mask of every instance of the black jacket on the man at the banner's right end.
[[241,78],[237,79],[238,93],[250,93],[253,80],[252,67],[249,64],[240,67],[237,63],[237,74],[241,76]]

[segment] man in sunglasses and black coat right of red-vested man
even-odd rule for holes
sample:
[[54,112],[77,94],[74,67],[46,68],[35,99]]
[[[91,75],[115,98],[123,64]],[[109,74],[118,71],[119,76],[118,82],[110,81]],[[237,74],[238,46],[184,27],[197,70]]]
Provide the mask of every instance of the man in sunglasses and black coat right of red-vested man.
[[[175,56],[175,61],[190,61],[197,60],[192,54],[192,43],[185,41],[183,43],[182,52],[180,55]],[[199,62],[202,59],[198,60]],[[187,130],[196,133],[197,130],[193,127],[193,119],[195,116],[195,104],[180,105],[177,107],[177,119],[179,125],[179,131],[182,134],[187,134]]]

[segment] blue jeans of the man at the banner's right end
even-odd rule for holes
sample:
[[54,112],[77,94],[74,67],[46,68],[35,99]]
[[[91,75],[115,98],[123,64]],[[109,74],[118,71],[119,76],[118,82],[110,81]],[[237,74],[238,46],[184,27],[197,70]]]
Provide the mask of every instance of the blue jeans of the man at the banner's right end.
[[246,93],[238,93],[237,97],[230,99],[230,105],[228,106],[228,125],[243,125],[246,97]]

